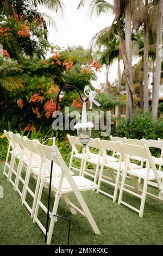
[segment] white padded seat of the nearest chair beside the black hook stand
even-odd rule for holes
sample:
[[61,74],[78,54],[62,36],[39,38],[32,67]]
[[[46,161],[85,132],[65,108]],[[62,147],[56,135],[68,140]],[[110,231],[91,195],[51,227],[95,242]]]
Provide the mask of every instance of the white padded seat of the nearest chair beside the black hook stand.
[[[83,190],[92,190],[95,188],[98,188],[98,185],[96,185],[93,181],[88,180],[86,178],[84,178],[83,176],[73,176],[72,177],[74,182],[76,183],[79,191],[83,191]],[[52,178],[52,186],[57,189],[58,188],[58,183],[59,183],[59,177],[57,178]],[[49,184],[49,178],[46,179],[46,181]],[[61,186],[61,191],[72,191],[72,188],[69,184],[69,182],[67,181],[66,177],[64,177],[63,182],[62,182],[62,186]]]

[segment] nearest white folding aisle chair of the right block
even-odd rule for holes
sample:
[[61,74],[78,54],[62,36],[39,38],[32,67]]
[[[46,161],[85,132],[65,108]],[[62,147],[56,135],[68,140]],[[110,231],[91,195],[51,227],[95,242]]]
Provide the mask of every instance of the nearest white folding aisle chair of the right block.
[[[139,145],[131,145],[127,143],[124,143],[124,144],[120,143],[120,147],[121,147],[122,157],[126,161],[126,168],[124,169],[123,176],[122,176],[122,183],[121,183],[121,189],[120,189],[120,196],[118,198],[118,204],[126,205],[130,209],[138,212],[139,217],[142,217],[144,207],[145,207],[146,196],[150,196],[156,200],[160,200],[161,202],[163,202],[162,198],[147,192],[149,181],[152,181],[152,180],[156,180],[156,182],[158,183],[158,187],[160,188],[160,190],[162,189],[161,179],[163,178],[163,173],[156,169],[151,152],[147,147],[147,145],[139,146]],[[132,169],[129,164],[130,163],[129,155],[139,156],[139,157],[142,157],[143,159],[146,159],[146,167],[140,168],[140,169]],[[133,182],[135,191],[131,191],[128,188],[124,187],[127,174],[129,174],[131,177],[131,181]],[[137,180],[139,178],[144,180],[142,190]],[[132,194],[137,198],[140,198],[141,200],[140,209],[137,209],[134,206],[122,200],[124,191]]]

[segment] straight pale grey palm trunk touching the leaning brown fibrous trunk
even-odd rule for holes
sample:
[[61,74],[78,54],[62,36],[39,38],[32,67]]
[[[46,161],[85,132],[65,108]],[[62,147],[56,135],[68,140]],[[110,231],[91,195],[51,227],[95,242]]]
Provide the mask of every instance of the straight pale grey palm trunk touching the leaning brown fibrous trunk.
[[[126,54],[129,65],[129,74],[128,79],[130,84],[133,86],[133,68],[131,64],[131,4],[128,1],[126,5],[126,14],[125,14],[126,22],[125,22],[125,41],[126,41]],[[127,83],[126,86],[126,99],[127,99],[127,112],[129,115],[130,123],[133,123],[134,120],[134,106],[131,98],[131,92]]]

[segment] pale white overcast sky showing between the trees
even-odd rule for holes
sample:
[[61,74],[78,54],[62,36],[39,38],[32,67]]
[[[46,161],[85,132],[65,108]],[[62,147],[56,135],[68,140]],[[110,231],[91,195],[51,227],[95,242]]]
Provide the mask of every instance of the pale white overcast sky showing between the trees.
[[[111,3],[113,0],[106,0]],[[54,45],[60,47],[79,46],[89,48],[92,36],[101,29],[111,25],[114,20],[114,14],[101,14],[99,17],[94,14],[92,17],[89,15],[87,6],[77,9],[80,0],[62,0],[65,5],[64,14],[54,14],[51,12],[52,19],[55,20],[57,29],[53,26],[48,28],[48,40]],[[46,13],[46,10],[45,10]],[[137,62],[134,58],[133,65]],[[123,71],[123,62],[121,61],[121,72]],[[105,83],[105,70],[97,73],[97,81],[92,82],[93,86],[100,83]],[[117,60],[114,60],[109,70],[109,81],[114,82],[117,78]]]

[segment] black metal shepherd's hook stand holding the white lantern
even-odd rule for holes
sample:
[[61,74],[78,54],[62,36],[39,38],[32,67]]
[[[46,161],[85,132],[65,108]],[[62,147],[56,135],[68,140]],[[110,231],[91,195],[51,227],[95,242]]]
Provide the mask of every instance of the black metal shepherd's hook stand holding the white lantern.
[[[55,117],[54,117],[54,120],[57,118],[57,112],[58,112],[58,105],[59,105],[59,95],[60,93],[62,92],[62,90],[65,90],[66,88],[73,88],[73,89],[76,89],[79,93],[79,96],[80,96],[80,99],[84,102],[83,98],[82,98],[82,94],[80,93],[80,90],[76,87],[76,86],[71,86],[71,85],[68,85],[68,86],[65,86],[63,88],[60,89],[58,95],[57,95],[57,104],[56,104],[56,109],[55,109]],[[89,97],[86,98],[85,101],[89,100]],[[54,130],[54,133],[53,133],[53,144],[55,143],[55,135],[56,135],[56,131]],[[53,172],[53,158],[52,158],[52,161],[51,161],[51,174],[50,174],[50,182],[49,182],[49,194],[48,194],[48,207],[47,207],[47,219],[46,219],[46,235],[45,235],[45,242],[47,241],[47,234],[48,234],[48,223],[49,223],[49,208],[50,208],[50,198],[51,198],[51,185],[52,185],[52,172]],[[68,220],[69,221],[69,227],[68,227],[68,245],[69,245],[69,237],[70,237],[70,219],[68,218],[65,218],[65,217],[61,217],[61,216],[58,216],[56,215],[55,217],[60,217],[60,218],[63,218],[65,220]]]

